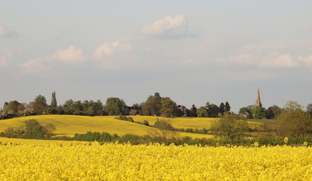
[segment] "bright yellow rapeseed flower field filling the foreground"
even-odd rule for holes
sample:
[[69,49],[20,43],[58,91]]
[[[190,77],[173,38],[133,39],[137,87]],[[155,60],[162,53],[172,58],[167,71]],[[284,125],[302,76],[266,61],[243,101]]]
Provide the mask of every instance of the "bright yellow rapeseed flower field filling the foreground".
[[312,147],[0,145],[1,180],[312,180]]

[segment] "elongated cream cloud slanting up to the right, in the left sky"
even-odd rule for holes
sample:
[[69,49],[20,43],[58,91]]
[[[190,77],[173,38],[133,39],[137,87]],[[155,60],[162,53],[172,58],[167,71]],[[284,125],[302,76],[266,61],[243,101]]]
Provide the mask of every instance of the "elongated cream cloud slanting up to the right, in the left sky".
[[79,64],[85,61],[86,57],[83,55],[80,48],[76,49],[75,46],[71,45],[67,49],[59,49],[53,55],[46,57],[35,58],[22,64],[22,67],[26,68],[24,72],[36,73],[42,70],[49,70],[53,65],[57,63],[66,64]]

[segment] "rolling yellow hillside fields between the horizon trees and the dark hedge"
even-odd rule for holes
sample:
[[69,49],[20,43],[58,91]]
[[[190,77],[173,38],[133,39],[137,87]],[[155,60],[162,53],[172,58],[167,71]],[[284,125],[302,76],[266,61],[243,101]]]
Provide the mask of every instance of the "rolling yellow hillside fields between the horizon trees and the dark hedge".
[[[127,133],[144,135],[149,128],[142,124],[132,123],[128,121],[114,119],[115,116],[75,116],[75,115],[41,115],[41,116],[28,116],[21,118],[1,120],[0,132],[8,127],[18,127],[23,125],[23,122],[28,119],[36,119],[41,125],[48,123],[56,127],[56,136],[69,136],[73,137],[76,133],[91,132],[108,132],[110,134],[124,135]],[[134,121],[143,122],[144,119],[148,120],[151,125],[156,121],[152,116],[131,116]],[[176,128],[196,128],[190,125],[198,125],[197,128],[209,128],[212,119],[209,118],[174,118],[173,127]],[[191,123],[193,122],[193,123]],[[189,126],[189,127],[188,127]],[[194,134],[194,133],[181,133],[181,136],[190,136],[192,138],[211,138],[212,135],[207,134]]]

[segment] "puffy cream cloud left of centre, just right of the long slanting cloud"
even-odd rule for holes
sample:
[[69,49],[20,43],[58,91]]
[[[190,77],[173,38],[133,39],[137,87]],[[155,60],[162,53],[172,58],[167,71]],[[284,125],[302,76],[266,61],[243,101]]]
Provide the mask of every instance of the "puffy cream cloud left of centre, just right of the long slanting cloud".
[[136,63],[138,55],[131,53],[131,45],[114,42],[104,42],[95,49],[92,58],[101,63],[104,69],[119,69],[131,63]]

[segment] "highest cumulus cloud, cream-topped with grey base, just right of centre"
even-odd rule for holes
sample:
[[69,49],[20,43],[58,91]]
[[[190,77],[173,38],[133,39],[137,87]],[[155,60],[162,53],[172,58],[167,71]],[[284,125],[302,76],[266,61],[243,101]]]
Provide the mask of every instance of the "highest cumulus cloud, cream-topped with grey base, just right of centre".
[[188,33],[188,19],[180,14],[172,18],[166,16],[163,19],[155,21],[152,25],[145,25],[141,34],[148,36],[160,36],[164,38],[179,38]]

